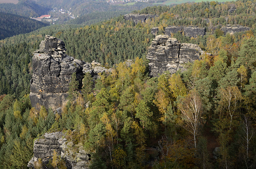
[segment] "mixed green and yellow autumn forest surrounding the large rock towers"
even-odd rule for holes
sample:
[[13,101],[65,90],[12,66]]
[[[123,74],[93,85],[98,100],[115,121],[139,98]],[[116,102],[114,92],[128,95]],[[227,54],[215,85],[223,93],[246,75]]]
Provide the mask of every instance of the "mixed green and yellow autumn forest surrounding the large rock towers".
[[[91,26],[48,26],[1,40],[1,168],[26,168],[33,140],[61,130],[68,140],[94,152],[92,169],[255,168],[255,3],[147,7],[139,12],[159,17],[137,25],[119,16]],[[236,8],[232,13],[231,7]],[[234,35],[220,29],[211,33],[211,26],[226,24],[252,29]],[[161,34],[168,25],[206,27],[204,37],[173,37],[198,44],[212,55],[187,64],[185,72],[149,77],[145,56],[154,38],[151,28],[159,27]],[[62,39],[68,55],[113,68],[100,74],[95,85],[85,74],[83,88],[70,90],[75,97],[61,116],[43,106],[35,110],[28,96],[32,52],[45,34]],[[126,59],[134,64],[128,67]],[[77,88],[75,81],[70,88]],[[215,147],[217,159],[212,154]],[[65,167],[60,164],[58,168]]]

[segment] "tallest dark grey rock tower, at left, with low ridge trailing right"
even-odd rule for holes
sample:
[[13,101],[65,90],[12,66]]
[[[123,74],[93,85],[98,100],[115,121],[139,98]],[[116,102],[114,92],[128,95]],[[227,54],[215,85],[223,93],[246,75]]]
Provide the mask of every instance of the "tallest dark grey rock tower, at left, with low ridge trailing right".
[[93,65],[74,59],[65,52],[65,44],[56,37],[45,36],[32,58],[33,75],[30,81],[30,100],[33,107],[44,105],[56,110],[67,103],[72,73],[76,73],[79,88],[85,72],[92,76],[110,71],[99,63]]

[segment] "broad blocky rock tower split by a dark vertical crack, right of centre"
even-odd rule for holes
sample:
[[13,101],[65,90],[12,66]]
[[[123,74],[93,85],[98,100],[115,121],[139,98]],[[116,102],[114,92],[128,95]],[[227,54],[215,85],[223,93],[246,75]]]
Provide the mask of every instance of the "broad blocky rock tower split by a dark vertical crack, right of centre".
[[199,60],[203,52],[196,44],[180,44],[168,35],[158,35],[148,47],[150,75],[156,77],[165,71],[175,73],[179,69],[184,70],[183,63]]

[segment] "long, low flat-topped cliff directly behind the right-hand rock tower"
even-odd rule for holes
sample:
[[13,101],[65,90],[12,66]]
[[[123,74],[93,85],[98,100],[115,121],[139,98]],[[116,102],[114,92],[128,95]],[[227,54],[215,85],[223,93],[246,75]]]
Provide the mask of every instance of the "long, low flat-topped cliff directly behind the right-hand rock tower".
[[165,34],[171,36],[172,33],[184,32],[185,36],[197,37],[204,36],[206,33],[205,28],[198,28],[197,26],[185,27],[185,26],[168,26],[165,28]]

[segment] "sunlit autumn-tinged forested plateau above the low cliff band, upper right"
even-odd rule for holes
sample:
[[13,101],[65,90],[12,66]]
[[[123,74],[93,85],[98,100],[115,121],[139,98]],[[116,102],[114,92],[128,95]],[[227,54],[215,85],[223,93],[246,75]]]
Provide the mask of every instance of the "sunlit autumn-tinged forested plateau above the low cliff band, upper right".
[[[165,13],[162,13],[165,12]],[[162,26],[213,26],[236,25],[255,27],[255,6],[252,1],[186,3],[159,10],[147,7],[134,13],[160,14]]]

